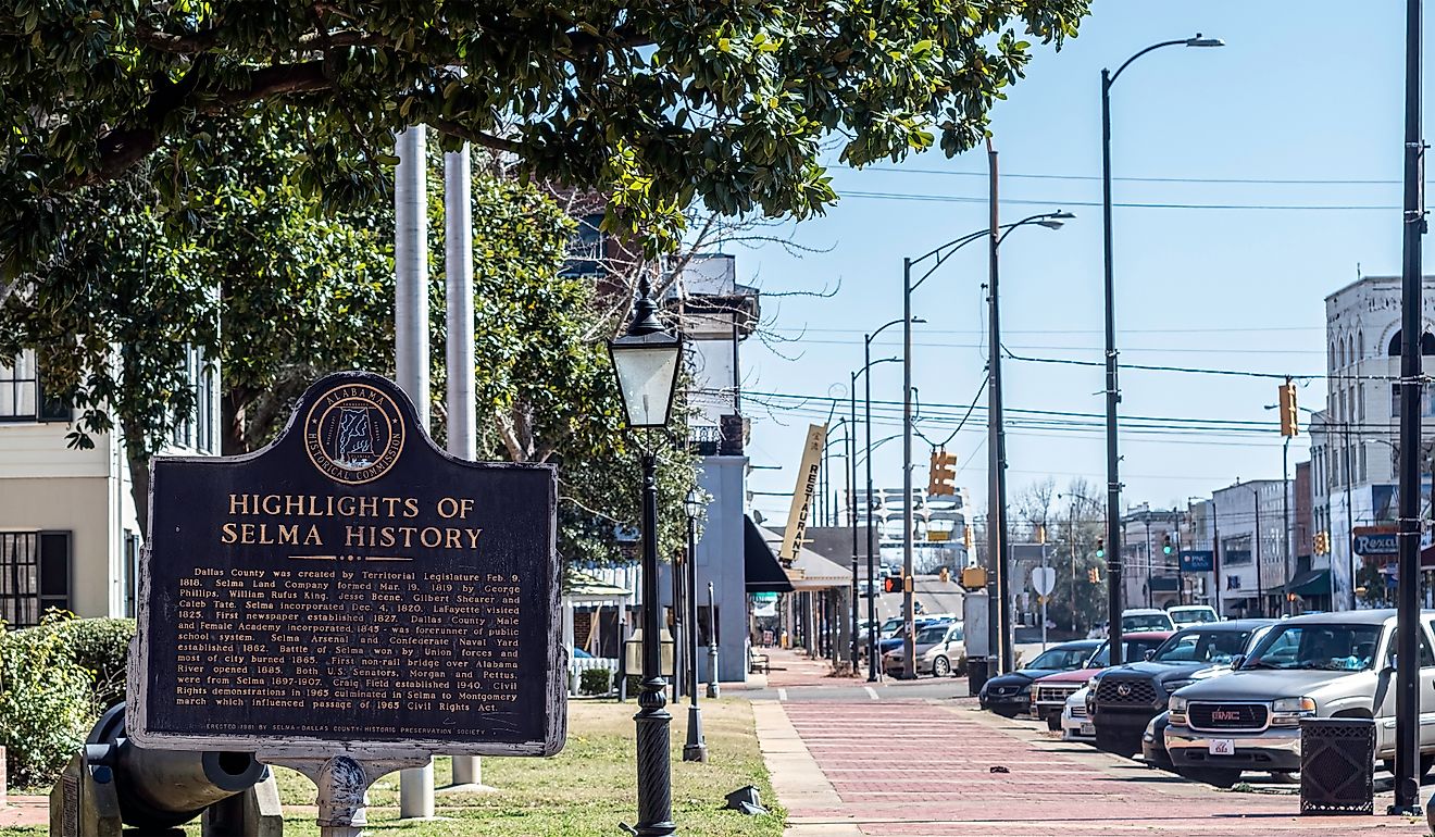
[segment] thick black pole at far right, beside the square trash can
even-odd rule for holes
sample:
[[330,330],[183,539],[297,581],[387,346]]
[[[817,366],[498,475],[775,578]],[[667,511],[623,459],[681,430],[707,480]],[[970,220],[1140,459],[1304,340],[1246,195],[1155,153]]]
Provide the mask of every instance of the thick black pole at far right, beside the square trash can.
[[[1401,271],[1399,600],[1395,672],[1395,804],[1421,811],[1421,237],[1425,234],[1425,141],[1421,138],[1421,0],[1405,3],[1405,211]],[[1352,589],[1355,583],[1352,580]]]

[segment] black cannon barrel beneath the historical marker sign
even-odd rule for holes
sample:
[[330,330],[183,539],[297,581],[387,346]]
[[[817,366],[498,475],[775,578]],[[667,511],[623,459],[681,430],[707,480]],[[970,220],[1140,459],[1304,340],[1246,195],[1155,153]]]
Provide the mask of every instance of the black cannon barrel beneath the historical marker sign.
[[100,716],[88,744],[108,745],[105,764],[113,771],[121,818],[139,828],[188,823],[268,775],[253,752],[145,749],[125,734],[123,703]]

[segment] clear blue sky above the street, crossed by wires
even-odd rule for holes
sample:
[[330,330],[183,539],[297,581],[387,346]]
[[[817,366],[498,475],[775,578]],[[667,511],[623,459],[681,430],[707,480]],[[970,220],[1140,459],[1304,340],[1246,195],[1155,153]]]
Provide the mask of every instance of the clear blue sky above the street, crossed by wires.
[[[1027,78],[994,109],[1002,215],[1015,221],[1066,208],[1063,230],[1017,230],[1003,244],[1003,343],[1016,355],[1102,359],[1099,72],[1134,52],[1197,32],[1224,49],[1168,47],[1142,57],[1112,89],[1116,178],[1192,178],[1201,182],[1122,181],[1115,201],[1373,208],[1118,208],[1116,326],[1125,363],[1244,369],[1289,375],[1325,372],[1325,296],[1401,266],[1401,138],[1403,3],[1251,3],[1250,0],[1098,0],[1076,39],[1059,53],[1038,47]],[[1426,32],[1426,40],[1431,33]],[[1425,96],[1431,111],[1431,95]],[[1429,135],[1429,132],[1426,132]],[[862,332],[901,316],[901,260],[986,225],[986,154],[954,159],[940,152],[901,167],[834,169],[841,204],[804,223],[795,240],[825,253],[794,257],[776,246],[733,247],[739,277],[765,291],[841,287],[828,299],[771,296],[763,309],[781,339],[743,346],[751,393],[847,395],[861,365]],[[974,177],[973,177],[974,175]],[[1032,178],[1016,175],[1060,175]],[[1210,182],[1385,181],[1363,184]],[[913,200],[867,195],[936,195]],[[914,383],[926,403],[966,405],[984,375],[986,254],[973,246],[916,294]],[[898,355],[900,327],[874,345],[874,357]],[[1006,360],[1007,409],[1102,413],[1099,368]],[[1122,372],[1122,413],[1273,421],[1263,405],[1274,380]],[[1325,382],[1302,386],[1303,406],[1325,403]],[[901,368],[874,369],[874,401],[901,399]],[[749,455],[758,491],[791,491],[809,421],[824,402],[766,409],[749,396]],[[980,402],[984,406],[984,399]],[[845,412],[845,403],[839,415]],[[888,409],[874,439],[900,432]],[[931,413],[963,412],[956,406]],[[1016,428],[1007,438],[1009,490],[1046,475],[1058,491],[1085,477],[1105,482],[1105,444],[1091,429]],[[951,425],[924,426],[941,438]],[[986,508],[984,413],[949,446],[960,457],[957,482]],[[1280,436],[1122,436],[1126,504],[1184,505],[1190,495],[1240,480],[1279,478]],[[1307,438],[1292,444],[1307,458]],[[917,439],[924,485],[928,446]],[[874,457],[874,482],[901,481],[900,439]],[[755,507],[781,523],[786,502],[758,497]]]

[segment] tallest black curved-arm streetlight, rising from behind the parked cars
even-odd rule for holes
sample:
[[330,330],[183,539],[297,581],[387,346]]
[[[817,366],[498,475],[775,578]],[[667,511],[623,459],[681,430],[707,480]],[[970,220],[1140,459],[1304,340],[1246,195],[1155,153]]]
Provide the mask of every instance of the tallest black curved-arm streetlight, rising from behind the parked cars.
[[1116,388],[1116,309],[1114,301],[1111,258],[1111,86],[1131,62],[1164,46],[1225,46],[1218,37],[1185,37],[1162,40],[1126,59],[1116,72],[1101,70],[1101,218],[1102,246],[1105,248],[1105,296],[1106,296],[1106,619],[1111,626],[1111,665],[1119,666],[1121,659],[1121,478],[1116,452],[1116,405],[1121,391]]

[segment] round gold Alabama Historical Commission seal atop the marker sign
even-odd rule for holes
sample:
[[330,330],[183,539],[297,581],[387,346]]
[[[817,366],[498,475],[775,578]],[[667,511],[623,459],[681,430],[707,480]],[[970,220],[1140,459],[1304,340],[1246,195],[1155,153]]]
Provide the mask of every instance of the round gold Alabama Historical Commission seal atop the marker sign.
[[304,449],[336,482],[372,482],[399,461],[403,415],[387,393],[367,383],[336,386],[304,418]]

